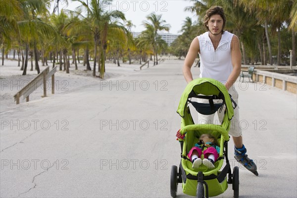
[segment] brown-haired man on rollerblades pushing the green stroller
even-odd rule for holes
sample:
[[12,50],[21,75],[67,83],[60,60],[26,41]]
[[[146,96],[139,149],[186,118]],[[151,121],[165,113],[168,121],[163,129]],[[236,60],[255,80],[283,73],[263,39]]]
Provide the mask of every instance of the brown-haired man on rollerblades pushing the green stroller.
[[[233,84],[241,72],[241,51],[239,39],[236,35],[224,31],[226,16],[220,6],[211,6],[203,19],[204,27],[208,30],[192,41],[183,66],[184,77],[189,83],[193,80],[191,67],[197,54],[200,57],[200,78],[212,78],[225,85],[232,99],[238,104],[238,93]],[[199,100],[200,102],[200,100]],[[203,101],[201,101],[203,102]],[[234,109],[233,121],[229,134],[233,137],[235,145],[235,159],[243,164],[249,171],[257,175],[257,167],[247,157],[247,149],[243,144],[242,130],[239,126],[239,107]],[[218,112],[222,120],[223,113]],[[206,116],[198,114],[201,121],[213,123],[214,114]],[[205,123],[205,122],[204,122]]]

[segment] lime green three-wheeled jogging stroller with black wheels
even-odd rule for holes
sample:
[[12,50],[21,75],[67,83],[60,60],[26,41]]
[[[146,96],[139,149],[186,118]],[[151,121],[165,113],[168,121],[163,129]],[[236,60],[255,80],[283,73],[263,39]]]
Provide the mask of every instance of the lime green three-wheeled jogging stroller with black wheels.
[[[209,103],[194,102],[190,100],[192,98],[208,99]],[[214,103],[215,99],[220,99],[218,100],[220,103]],[[190,113],[190,103],[199,113],[206,115],[222,110],[223,106],[226,106],[221,125],[195,124]],[[181,146],[181,161],[179,168],[175,165],[171,167],[171,197],[176,197],[179,183],[182,183],[184,194],[197,198],[220,195],[227,190],[228,184],[232,184],[234,198],[239,197],[239,167],[234,167],[233,172],[231,172],[228,159],[228,141],[230,138],[228,131],[230,120],[234,115],[233,109],[236,105],[225,86],[219,81],[210,78],[198,78],[187,85],[177,110],[177,113],[182,117],[181,129],[177,134],[177,140]],[[200,165],[198,170],[194,170],[187,154],[195,143],[199,142],[200,135],[204,133],[211,134],[217,139],[220,147],[219,158],[214,163],[214,169],[210,170],[206,166]],[[203,155],[201,159],[203,159]],[[221,170],[224,159],[226,159],[226,165]]]

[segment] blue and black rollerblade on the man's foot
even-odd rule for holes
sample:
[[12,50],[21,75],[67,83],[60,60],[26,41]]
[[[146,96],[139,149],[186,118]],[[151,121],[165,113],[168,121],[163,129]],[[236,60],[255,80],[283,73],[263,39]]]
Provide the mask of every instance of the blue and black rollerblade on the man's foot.
[[236,148],[236,147],[234,147],[234,158],[239,163],[241,163],[242,165],[244,165],[247,170],[249,170],[250,172],[252,172],[256,176],[258,176],[257,166],[253,162],[252,159],[249,159],[247,157],[246,152],[247,152],[247,148],[245,148],[244,145],[243,145],[243,148]]

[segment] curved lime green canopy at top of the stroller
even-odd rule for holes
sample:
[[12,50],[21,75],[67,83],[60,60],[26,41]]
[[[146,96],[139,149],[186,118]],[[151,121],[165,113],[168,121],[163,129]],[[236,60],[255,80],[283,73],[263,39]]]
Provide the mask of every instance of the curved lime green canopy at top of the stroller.
[[185,88],[182,94],[182,97],[177,109],[177,113],[181,117],[185,116],[184,111],[187,107],[188,99],[192,97],[196,97],[198,95],[217,96],[218,98],[223,99],[223,103],[226,104],[225,115],[228,116],[229,120],[232,119],[234,115],[234,111],[233,111],[232,101],[230,99],[228,90],[221,82],[211,78],[198,78],[191,81],[187,85],[187,87]]

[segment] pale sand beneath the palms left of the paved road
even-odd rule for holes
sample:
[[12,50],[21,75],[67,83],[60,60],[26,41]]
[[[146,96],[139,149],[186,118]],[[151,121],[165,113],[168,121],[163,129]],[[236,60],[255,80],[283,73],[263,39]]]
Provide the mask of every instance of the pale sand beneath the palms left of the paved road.
[[[52,63],[48,62],[49,69],[52,68]],[[93,62],[90,62],[91,68],[93,68]],[[70,73],[67,74],[66,71],[59,71],[59,66],[55,73],[55,94],[61,94],[75,89],[88,86],[94,83],[98,83],[102,80],[108,80],[116,78],[118,76],[123,76],[131,72],[139,72],[140,64],[139,62],[133,63],[131,65],[127,63],[120,63],[121,66],[118,67],[117,64],[113,64],[110,61],[106,62],[104,74],[104,79],[99,78],[99,72],[96,72],[96,77],[93,77],[93,71],[86,70],[86,67],[82,63],[78,63],[78,70],[75,70],[74,64],[70,65]],[[22,75],[23,71],[17,66],[17,60],[4,59],[4,65],[0,66],[0,112],[15,108],[17,106],[16,101],[14,101],[14,95],[24,88],[31,80],[37,76],[37,70],[30,71],[31,62],[28,62],[27,75]],[[42,72],[47,66],[41,66],[42,63],[39,62],[40,71]],[[142,69],[146,69],[144,66]],[[98,69],[98,66],[97,66]],[[51,79],[47,80],[47,96],[50,97],[51,94]],[[35,91],[30,94],[29,99],[37,100],[41,99],[44,93],[43,84],[41,86],[36,86]],[[20,103],[26,102],[26,99],[21,97]]]

